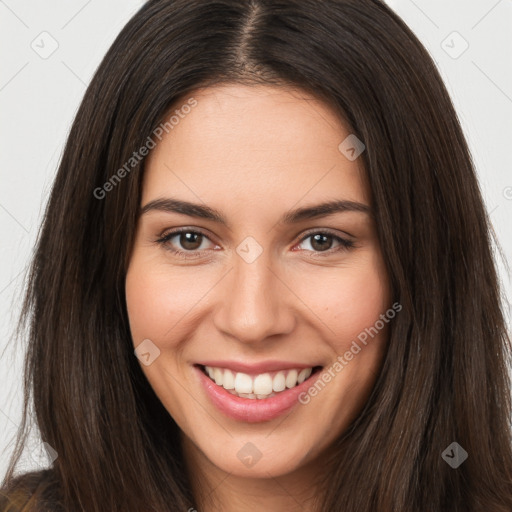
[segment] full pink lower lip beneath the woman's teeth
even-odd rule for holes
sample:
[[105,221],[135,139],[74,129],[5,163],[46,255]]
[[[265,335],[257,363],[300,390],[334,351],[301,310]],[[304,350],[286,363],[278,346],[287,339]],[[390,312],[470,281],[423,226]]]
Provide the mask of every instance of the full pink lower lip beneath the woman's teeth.
[[270,398],[252,399],[231,394],[222,386],[215,384],[201,368],[195,366],[194,369],[213,404],[226,416],[247,423],[270,421],[291,410],[298,403],[298,396],[320,375],[320,372],[315,372],[298,386],[280,391]]

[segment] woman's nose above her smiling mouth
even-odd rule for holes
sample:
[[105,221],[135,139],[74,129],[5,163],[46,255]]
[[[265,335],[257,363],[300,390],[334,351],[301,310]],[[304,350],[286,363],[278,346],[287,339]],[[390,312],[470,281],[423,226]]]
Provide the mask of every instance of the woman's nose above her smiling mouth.
[[214,324],[225,336],[257,344],[294,329],[294,294],[271,267],[266,251],[251,263],[234,254],[222,281]]

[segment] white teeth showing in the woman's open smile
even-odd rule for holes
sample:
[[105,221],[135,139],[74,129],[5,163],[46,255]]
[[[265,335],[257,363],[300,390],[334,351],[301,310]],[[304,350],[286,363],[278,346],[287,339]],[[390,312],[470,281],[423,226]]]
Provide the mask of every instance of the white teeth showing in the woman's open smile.
[[228,368],[197,366],[217,386],[224,388],[232,395],[259,400],[271,398],[292,389],[322,369],[321,366],[312,366],[249,375],[234,372]]

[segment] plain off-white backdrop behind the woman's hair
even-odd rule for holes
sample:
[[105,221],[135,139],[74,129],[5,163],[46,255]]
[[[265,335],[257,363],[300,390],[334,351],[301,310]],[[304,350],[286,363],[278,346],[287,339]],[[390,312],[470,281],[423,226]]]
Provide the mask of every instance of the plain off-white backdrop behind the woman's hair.
[[[191,0],[193,1],[193,0]],[[452,96],[505,260],[512,256],[512,1],[389,0]],[[0,476],[21,417],[23,279],[87,84],[141,0],[0,0]],[[320,4],[320,2],[319,2]],[[498,261],[510,326],[511,281]],[[478,293],[475,290],[474,293]],[[36,437],[23,467],[47,462]]]

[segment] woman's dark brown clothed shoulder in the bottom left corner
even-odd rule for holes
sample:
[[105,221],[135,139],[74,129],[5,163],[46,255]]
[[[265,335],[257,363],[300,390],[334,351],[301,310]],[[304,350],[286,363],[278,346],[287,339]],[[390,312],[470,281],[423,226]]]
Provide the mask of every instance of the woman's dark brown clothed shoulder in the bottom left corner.
[[52,469],[17,475],[0,488],[0,512],[57,512]]

